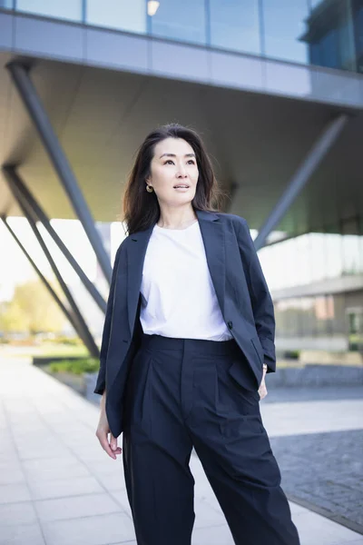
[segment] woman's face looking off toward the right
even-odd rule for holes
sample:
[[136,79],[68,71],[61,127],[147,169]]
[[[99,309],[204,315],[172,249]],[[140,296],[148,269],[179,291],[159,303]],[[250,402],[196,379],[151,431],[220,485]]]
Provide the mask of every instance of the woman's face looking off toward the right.
[[[152,185],[160,203],[191,203],[199,172],[193,149],[185,140],[166,138],[156,144],[150,171],[147,183]],[[177,187],[183,185],[187,187]]]

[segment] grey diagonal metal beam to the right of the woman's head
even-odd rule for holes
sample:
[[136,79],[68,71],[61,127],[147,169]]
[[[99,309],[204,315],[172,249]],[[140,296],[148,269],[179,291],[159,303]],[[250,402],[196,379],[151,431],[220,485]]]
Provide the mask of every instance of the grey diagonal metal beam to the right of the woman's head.
[[260,250],[264,246],[272,229],[280,223],[285,213],[289,210],[291,203],[293,203],[306,183],[309,182],[311,174],[318,168],[319,163],[336,142],[338,135],[347,122],[348,115],[340,114],[328,124],[322,134],[320,134],[318,140],[312,145],[304,161],[299,165],[297,172],[292,176],[287,188],[280,196],[279,202],[260,228],[259,234],[254,240],[256,250]]

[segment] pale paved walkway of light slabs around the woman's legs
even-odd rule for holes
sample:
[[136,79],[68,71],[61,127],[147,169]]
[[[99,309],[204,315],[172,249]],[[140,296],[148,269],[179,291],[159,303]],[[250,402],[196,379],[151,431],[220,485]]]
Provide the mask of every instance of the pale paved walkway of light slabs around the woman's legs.
[[[0,359],[0,544],[135,544],[122,461],[94,435],[98,408],[24,360]],[[270,437],[363,428],[363,401],[261,402]],[[232,545],[191,457],[193,545]],[[290,503],[301,545],[363,545],[363,536]]]

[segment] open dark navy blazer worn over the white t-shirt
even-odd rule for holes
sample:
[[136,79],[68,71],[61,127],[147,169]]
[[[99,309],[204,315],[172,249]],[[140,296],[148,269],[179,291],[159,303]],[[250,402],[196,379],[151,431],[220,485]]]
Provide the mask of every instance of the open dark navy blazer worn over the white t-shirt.
[[[249,226],[244,218],[231,213],[195,212],[223,319],[245,356],[234,362],[229,372],[243,387],[257,390],[262,363],[267,363],[268,372],[276,371],[275,317]],[[106,389],[106,415],[114,437],[123,431],[125,385],[140,345],[142,266],[152,229],[153,225],[127,236],[113,265],[94,392],[102,394]],[[242,370],[245,360],[253,377],[248,384]]]

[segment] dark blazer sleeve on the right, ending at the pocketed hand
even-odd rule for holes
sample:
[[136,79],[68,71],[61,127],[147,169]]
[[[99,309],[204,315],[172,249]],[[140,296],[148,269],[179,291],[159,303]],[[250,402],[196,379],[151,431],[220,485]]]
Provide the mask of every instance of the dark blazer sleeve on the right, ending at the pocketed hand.
[[276,371],[275,314],[270,291],[260,266],[250,228],[244,218],[239,218],[238,243],[240,258],[250,292],[256,331],[264,352],[267,372]]

